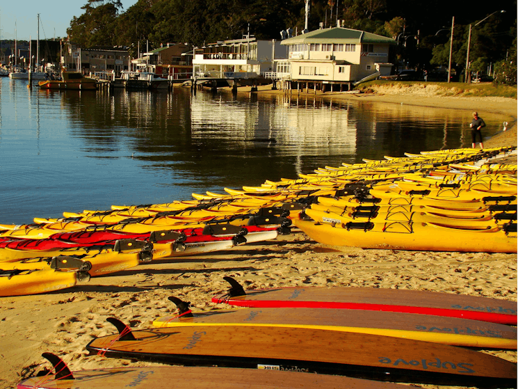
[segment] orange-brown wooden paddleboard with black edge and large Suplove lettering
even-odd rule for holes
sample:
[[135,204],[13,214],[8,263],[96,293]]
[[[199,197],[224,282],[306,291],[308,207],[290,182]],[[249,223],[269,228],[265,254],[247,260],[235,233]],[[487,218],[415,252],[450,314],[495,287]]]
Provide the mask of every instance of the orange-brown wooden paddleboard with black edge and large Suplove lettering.
[[[106,356],[181,365],[282,368],[387,381],[513,386],[516,364],[444,344],[315,328],[190,326],[131,332],[92,340]],[[121,335],[122,334],[122,335]]]

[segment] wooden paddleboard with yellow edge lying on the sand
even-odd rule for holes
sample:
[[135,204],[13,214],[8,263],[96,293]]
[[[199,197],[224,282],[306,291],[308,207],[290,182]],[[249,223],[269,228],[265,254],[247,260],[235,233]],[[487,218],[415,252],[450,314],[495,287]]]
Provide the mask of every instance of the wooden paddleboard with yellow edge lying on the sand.
[[[371,310],[318,308],[248,308],[211,310],[160,317],[153,325],[179,326],[277,326],[321,328],[330,331],[371,333],[424,340],[453,346],[517,349],[517,330],[485,321]],[[191,316],[192,315],[192,316]]]

